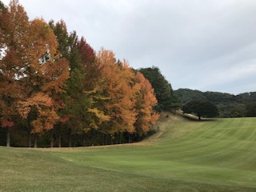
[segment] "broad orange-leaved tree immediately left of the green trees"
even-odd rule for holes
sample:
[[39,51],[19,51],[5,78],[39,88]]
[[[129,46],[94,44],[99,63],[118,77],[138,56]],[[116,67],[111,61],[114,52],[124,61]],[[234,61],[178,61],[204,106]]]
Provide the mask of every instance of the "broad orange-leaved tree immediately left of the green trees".
[[[53,129],[54,123],[59,119],[57,111],[63,108],[60,94],[65,92],[69,68],[66,59],[60,58],[57,54],[58,42],[53,30],[46,22],[42,19],[35,19],[30,22],[29,31],[27,33],[26,71],[24,72],[26,77],[22,81],[28,88],[25,103],[30,103],[33,100],[34,105],[30,105],[30,108],[34,106],[34,111],[31,110],[31,112],[37,114],[36,119],[29,126],[32,127],[32,133],[38,134],[42,130]],[[34,100],[38,94],[46,99],[50,97],[53,102],[49,102],[49,105],[39,109],[37,101],[40,101]]]

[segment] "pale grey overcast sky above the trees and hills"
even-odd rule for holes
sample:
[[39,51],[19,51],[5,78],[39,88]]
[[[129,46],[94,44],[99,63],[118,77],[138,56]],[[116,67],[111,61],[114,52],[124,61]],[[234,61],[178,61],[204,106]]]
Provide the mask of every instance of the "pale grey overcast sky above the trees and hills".
[[174,90],[256,91],[255,0],[19,2],[30,19],[63,19],[94,50],[113,50],[135,69],[158,66]]

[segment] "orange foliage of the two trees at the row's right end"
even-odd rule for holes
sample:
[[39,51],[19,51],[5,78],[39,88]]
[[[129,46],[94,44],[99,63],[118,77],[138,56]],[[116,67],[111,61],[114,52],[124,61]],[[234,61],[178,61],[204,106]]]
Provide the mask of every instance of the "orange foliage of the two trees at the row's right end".
[[102,90],[110,98],[103,104],[111,117],[108,131],[134,133],[136,128],[146,133],[158,119],[153,111],[157,100],[150,82],[141,73],[134,73],[126,60],[116,62],[112,51],[102,49],[97,59],[102,66]]

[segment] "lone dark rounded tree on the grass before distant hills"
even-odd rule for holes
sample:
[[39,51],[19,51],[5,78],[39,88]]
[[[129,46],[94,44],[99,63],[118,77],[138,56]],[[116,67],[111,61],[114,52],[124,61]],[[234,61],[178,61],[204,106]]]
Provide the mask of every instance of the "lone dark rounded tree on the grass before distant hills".
[[218,116],[218,108],[207,101],[194,100],[182,107],[183,113],[195,114],[200,120],[202,117],[214,118]]

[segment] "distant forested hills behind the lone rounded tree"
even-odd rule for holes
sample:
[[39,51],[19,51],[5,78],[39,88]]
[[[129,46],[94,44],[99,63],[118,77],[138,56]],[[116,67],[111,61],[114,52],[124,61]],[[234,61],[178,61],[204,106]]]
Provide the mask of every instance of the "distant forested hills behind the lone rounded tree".
[[174,90],[174,95],[180,99],[182,105],[193,100],[212,102],[218,107],[219,117],[254,117],[256,116],[256,92],[243,94],[226,94],[220,92],[190,89]]

